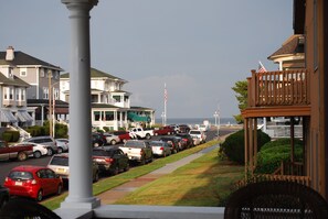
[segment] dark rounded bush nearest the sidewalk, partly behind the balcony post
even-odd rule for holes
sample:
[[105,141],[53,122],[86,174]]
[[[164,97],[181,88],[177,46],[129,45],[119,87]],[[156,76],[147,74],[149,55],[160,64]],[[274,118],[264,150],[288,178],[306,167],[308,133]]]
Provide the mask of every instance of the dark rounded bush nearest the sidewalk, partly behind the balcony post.
[[[271,138],[257,130],[257,151],[261,147],[271,141]],[[244,130],[240,130],[231,135],[229,135],[223,144],[221,145],[224,154],[233,162],[239,164],[245,163],[245,139],[244,139]]]

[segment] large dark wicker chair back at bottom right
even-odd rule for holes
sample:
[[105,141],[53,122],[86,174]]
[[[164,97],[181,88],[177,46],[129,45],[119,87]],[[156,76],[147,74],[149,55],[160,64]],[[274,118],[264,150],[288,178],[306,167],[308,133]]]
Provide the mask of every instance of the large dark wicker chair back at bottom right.
[[231,194],[225,219],[328,219],[327,201],[310,187],[282,180],[251,183]]

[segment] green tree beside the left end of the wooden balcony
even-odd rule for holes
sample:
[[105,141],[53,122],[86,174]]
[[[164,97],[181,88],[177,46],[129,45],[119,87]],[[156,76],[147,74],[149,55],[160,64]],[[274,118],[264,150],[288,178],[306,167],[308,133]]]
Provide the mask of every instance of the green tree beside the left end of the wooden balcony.
[[[236,81],[234,84],[234,87],[232,87],[233,91],[236,92],[235,98],[239,101],[239,109],[241,111],[243,109],[246,109],[247,107],[247,86],[248,86],[247,80],[241,80],[241,81]],[[237,123],[244,122],[242,114],[235,114],[233,117]]]

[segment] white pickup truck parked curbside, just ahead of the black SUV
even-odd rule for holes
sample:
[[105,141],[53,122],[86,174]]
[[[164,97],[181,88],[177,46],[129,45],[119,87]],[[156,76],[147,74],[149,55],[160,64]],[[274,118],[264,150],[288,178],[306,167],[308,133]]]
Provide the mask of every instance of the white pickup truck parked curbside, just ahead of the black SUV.
[[149,142],[142,140],[128,140],[119,149],[128,155],[130,161],[136,161],[141,164],[152,162],[154,154]]

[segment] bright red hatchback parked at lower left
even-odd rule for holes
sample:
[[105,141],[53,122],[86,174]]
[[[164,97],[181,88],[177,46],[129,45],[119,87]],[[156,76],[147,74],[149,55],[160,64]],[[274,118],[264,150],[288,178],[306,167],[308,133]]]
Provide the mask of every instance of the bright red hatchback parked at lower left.
[[63,180],[44,166],[22,165],[12,168],[4,179],[11,196],[24,196],[38,201],[44,196],[62,193]]

